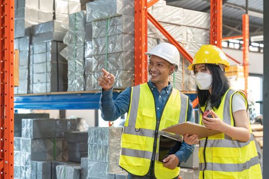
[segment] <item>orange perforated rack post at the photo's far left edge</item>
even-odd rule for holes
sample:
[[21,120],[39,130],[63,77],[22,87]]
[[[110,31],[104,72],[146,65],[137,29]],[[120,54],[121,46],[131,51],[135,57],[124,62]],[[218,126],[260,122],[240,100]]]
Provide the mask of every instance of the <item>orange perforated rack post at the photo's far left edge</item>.
[[14,1],[1,0],[0,178],[14,178]]

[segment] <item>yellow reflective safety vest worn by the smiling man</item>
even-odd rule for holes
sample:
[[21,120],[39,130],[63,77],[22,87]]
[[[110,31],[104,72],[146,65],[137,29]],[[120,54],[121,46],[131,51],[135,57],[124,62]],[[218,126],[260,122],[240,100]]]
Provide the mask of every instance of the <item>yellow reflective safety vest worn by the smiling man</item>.
[[[153,156],[158,154],[156,146],[161,130],[185,122],[188,105],[189,98],[173,88],[161,119],[157,120],[154,97],[149,84],[132,87],[130,107],[121,137],[120,167],[133,175],[146,175]],[[171,133],[169,135],[181,139],[181,136]],[[154,174],[156,178],[174,178],[179,175],[179,167],[171,170],[155,160]]]

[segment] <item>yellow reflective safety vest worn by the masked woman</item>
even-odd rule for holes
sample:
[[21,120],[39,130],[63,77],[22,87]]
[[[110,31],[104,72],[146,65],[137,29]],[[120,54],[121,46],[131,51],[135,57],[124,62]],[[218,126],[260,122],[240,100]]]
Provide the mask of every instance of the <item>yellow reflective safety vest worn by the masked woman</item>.
[[[232,113],[232,98],[235,93],[228,89],[222,97],[218,109],[213,111],[226,124],[235,126]],[[245,98],[245,104],[247,101]],[[202,110],[205,106],[202,107]],[[200,115],[200,124],[202,117]],[[226,136],[224,133],[200,139],[199,147],[199,178],[262,178],[259,158],[251,132],[251,139],[240,142]]]

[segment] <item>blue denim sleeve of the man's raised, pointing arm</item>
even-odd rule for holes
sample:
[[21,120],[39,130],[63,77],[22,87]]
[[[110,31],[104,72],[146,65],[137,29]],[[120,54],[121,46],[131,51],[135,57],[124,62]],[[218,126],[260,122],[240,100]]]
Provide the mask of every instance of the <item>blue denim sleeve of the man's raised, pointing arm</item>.
[[121,92],[118,97],[113,100],[113,89],[101,93],[99,108],[101,117],[105,121],[115,121],[120,116],[128,112],[131,96],[131,87]]

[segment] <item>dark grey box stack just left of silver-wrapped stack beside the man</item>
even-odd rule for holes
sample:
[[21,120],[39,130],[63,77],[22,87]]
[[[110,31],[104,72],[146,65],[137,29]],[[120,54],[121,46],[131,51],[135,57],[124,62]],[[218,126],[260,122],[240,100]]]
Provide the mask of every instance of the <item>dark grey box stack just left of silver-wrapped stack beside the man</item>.
[[80,162],[82,157],[88,156],[88,132],[65,132],[69,161]]

